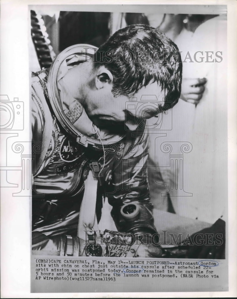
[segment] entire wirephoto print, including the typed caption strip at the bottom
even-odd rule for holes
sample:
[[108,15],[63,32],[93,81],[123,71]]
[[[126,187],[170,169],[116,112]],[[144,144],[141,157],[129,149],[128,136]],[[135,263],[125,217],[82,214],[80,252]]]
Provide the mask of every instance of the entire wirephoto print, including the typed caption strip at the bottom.
[[227,12],[27,6],[1,190],[29,204],[31,293],[230,290]]

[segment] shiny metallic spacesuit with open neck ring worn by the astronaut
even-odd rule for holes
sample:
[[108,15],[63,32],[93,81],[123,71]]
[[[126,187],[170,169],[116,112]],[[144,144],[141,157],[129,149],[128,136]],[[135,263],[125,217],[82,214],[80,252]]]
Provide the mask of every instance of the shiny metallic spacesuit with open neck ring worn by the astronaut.
[[[66,109],[60,80],[67,69],[93,55],[96,48],[75,45],[64,50],[50,69],[32,75],[32,243],[33,253],[65,255],[67,237],[73,240],[70,255],[80,255],[78,223],[85,182],[90,171],[98,181],[96,222],[105,198],[118,231],[155,234],[153,206],[146,172],[148,133],[138,125],[110,134],[93,126],[83,107]],[[121,215],[121,207],[133,202],[136,219]]]

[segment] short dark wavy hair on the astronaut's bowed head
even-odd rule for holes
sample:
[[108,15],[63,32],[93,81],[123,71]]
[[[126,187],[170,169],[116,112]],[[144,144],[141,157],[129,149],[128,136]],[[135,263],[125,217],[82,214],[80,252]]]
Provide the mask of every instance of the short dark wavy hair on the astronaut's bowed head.
[[180,53],[176,44],[158,29],[139,24],[116,31],[96,51],[94,62],[112,73],[114,96],[132,96],[143,86],[157,82],[171,106],[180,97]]

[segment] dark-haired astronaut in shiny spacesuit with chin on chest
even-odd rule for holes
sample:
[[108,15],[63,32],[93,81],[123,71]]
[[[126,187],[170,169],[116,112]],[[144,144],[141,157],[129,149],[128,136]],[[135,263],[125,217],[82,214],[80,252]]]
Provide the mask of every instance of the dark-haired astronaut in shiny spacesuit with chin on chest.
[[[101,256],[96,241],[107,200],[120,236],[139,240],[136,250],[133,242],[116,246],[136,257],[161,256],[145,122],[178,101],[177,56],[176,45],[159,30],[132,25],[98,50],[69,47],[49,70],[33,74],[34,254]],[[119,252],[106,247],[104,255]]]

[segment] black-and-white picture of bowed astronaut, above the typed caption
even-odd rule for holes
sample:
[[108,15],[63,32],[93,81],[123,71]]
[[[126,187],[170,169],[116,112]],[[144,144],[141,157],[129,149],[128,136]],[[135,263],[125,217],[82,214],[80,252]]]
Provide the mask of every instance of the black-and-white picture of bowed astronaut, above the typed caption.
[[[227,205],[224,7],[219,14],[53,8],[30,10],[38,62],[33,255],[218,265]],[[187,274],[205,278],[198,261],[189,266],[198,270]]]

